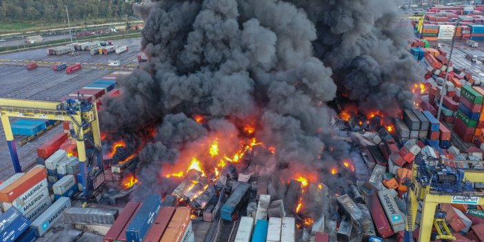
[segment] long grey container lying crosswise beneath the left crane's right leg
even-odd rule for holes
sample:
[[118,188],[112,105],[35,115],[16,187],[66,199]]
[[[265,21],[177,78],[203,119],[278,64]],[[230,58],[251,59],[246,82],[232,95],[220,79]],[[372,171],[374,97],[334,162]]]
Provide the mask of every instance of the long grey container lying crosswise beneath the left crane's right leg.
[[68,208],[64,212],[65,223],[112,225],[119,215],[118,210],[103,208]]

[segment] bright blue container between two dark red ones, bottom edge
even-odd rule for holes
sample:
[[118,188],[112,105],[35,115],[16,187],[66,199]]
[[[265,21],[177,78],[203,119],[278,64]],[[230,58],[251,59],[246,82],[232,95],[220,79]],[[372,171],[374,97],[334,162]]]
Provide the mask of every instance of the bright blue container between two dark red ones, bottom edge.
[[140,242],[150,229],[154,218],[157,217],[161,208],[160,194],[151,194],[148,196],[139,212],[134,216],[128,228],[126,228],[126,241]]

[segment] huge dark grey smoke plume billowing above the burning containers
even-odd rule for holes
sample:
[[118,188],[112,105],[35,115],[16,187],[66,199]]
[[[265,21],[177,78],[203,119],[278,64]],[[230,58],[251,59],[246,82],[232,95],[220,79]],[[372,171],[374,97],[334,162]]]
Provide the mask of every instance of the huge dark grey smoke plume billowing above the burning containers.
[[362,110],[385,110],[412,103],[420,81],[390,0],[166,0],[134,11],[145,19],[148,62],[100,116],[108,132],[155,127],[140,153],[143,184],[193,143],[239,137],[248,122],[276,148],[277,172],[323,169],[347,154],[327,134],[334,111],[325,103],[338,88]]

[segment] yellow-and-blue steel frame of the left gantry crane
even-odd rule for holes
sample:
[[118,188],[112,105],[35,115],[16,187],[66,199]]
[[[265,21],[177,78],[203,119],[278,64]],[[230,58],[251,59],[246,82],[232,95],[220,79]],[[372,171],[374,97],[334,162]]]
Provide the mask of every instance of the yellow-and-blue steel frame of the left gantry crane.
[[[92,132],[94,145],[101,148],[101,133],[99,130],[99,119],[97,116],[96,103],[93,102],[93,107],[89,111],[76,110],[73,114],[59,107],[64,107],[65,102],[58,101],[37,101],[26,99],[5,99],[0,98],[0,118],[3,125],[3,130],[10,148],[10,155],[14,163],[15,172],[21,172],[19,165],[19,158],[14,145],[14,137],[12,128],[10,126],[10,117],[27,118],[27,119],[48,119],[59,121],[71,121],[74,123],[74,133],[76,134],[77,153],[79,161],[81,162],[81,174],[83,174],[83,192],[87,196],[86,189],[86,175],[88,173],[88,166],[85,156],[85,135],[87,132]],[[83,121],[88,121],[88,127],[82,128],[76,125],[81,125]],[[98,166],[101,164],[100,157],[98,157]]]

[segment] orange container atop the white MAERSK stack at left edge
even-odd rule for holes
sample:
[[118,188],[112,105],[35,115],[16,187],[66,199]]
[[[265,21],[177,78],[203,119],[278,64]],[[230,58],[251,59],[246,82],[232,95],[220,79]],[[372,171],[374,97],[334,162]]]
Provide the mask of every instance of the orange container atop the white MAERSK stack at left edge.
[[0,201],[11,203],[23,192],[27,192],[32,186],[39,183],[47,177],[47,170],[44,166],[36,166],[28,171],[23,177],[17,179],[6,188],[0,190]]

